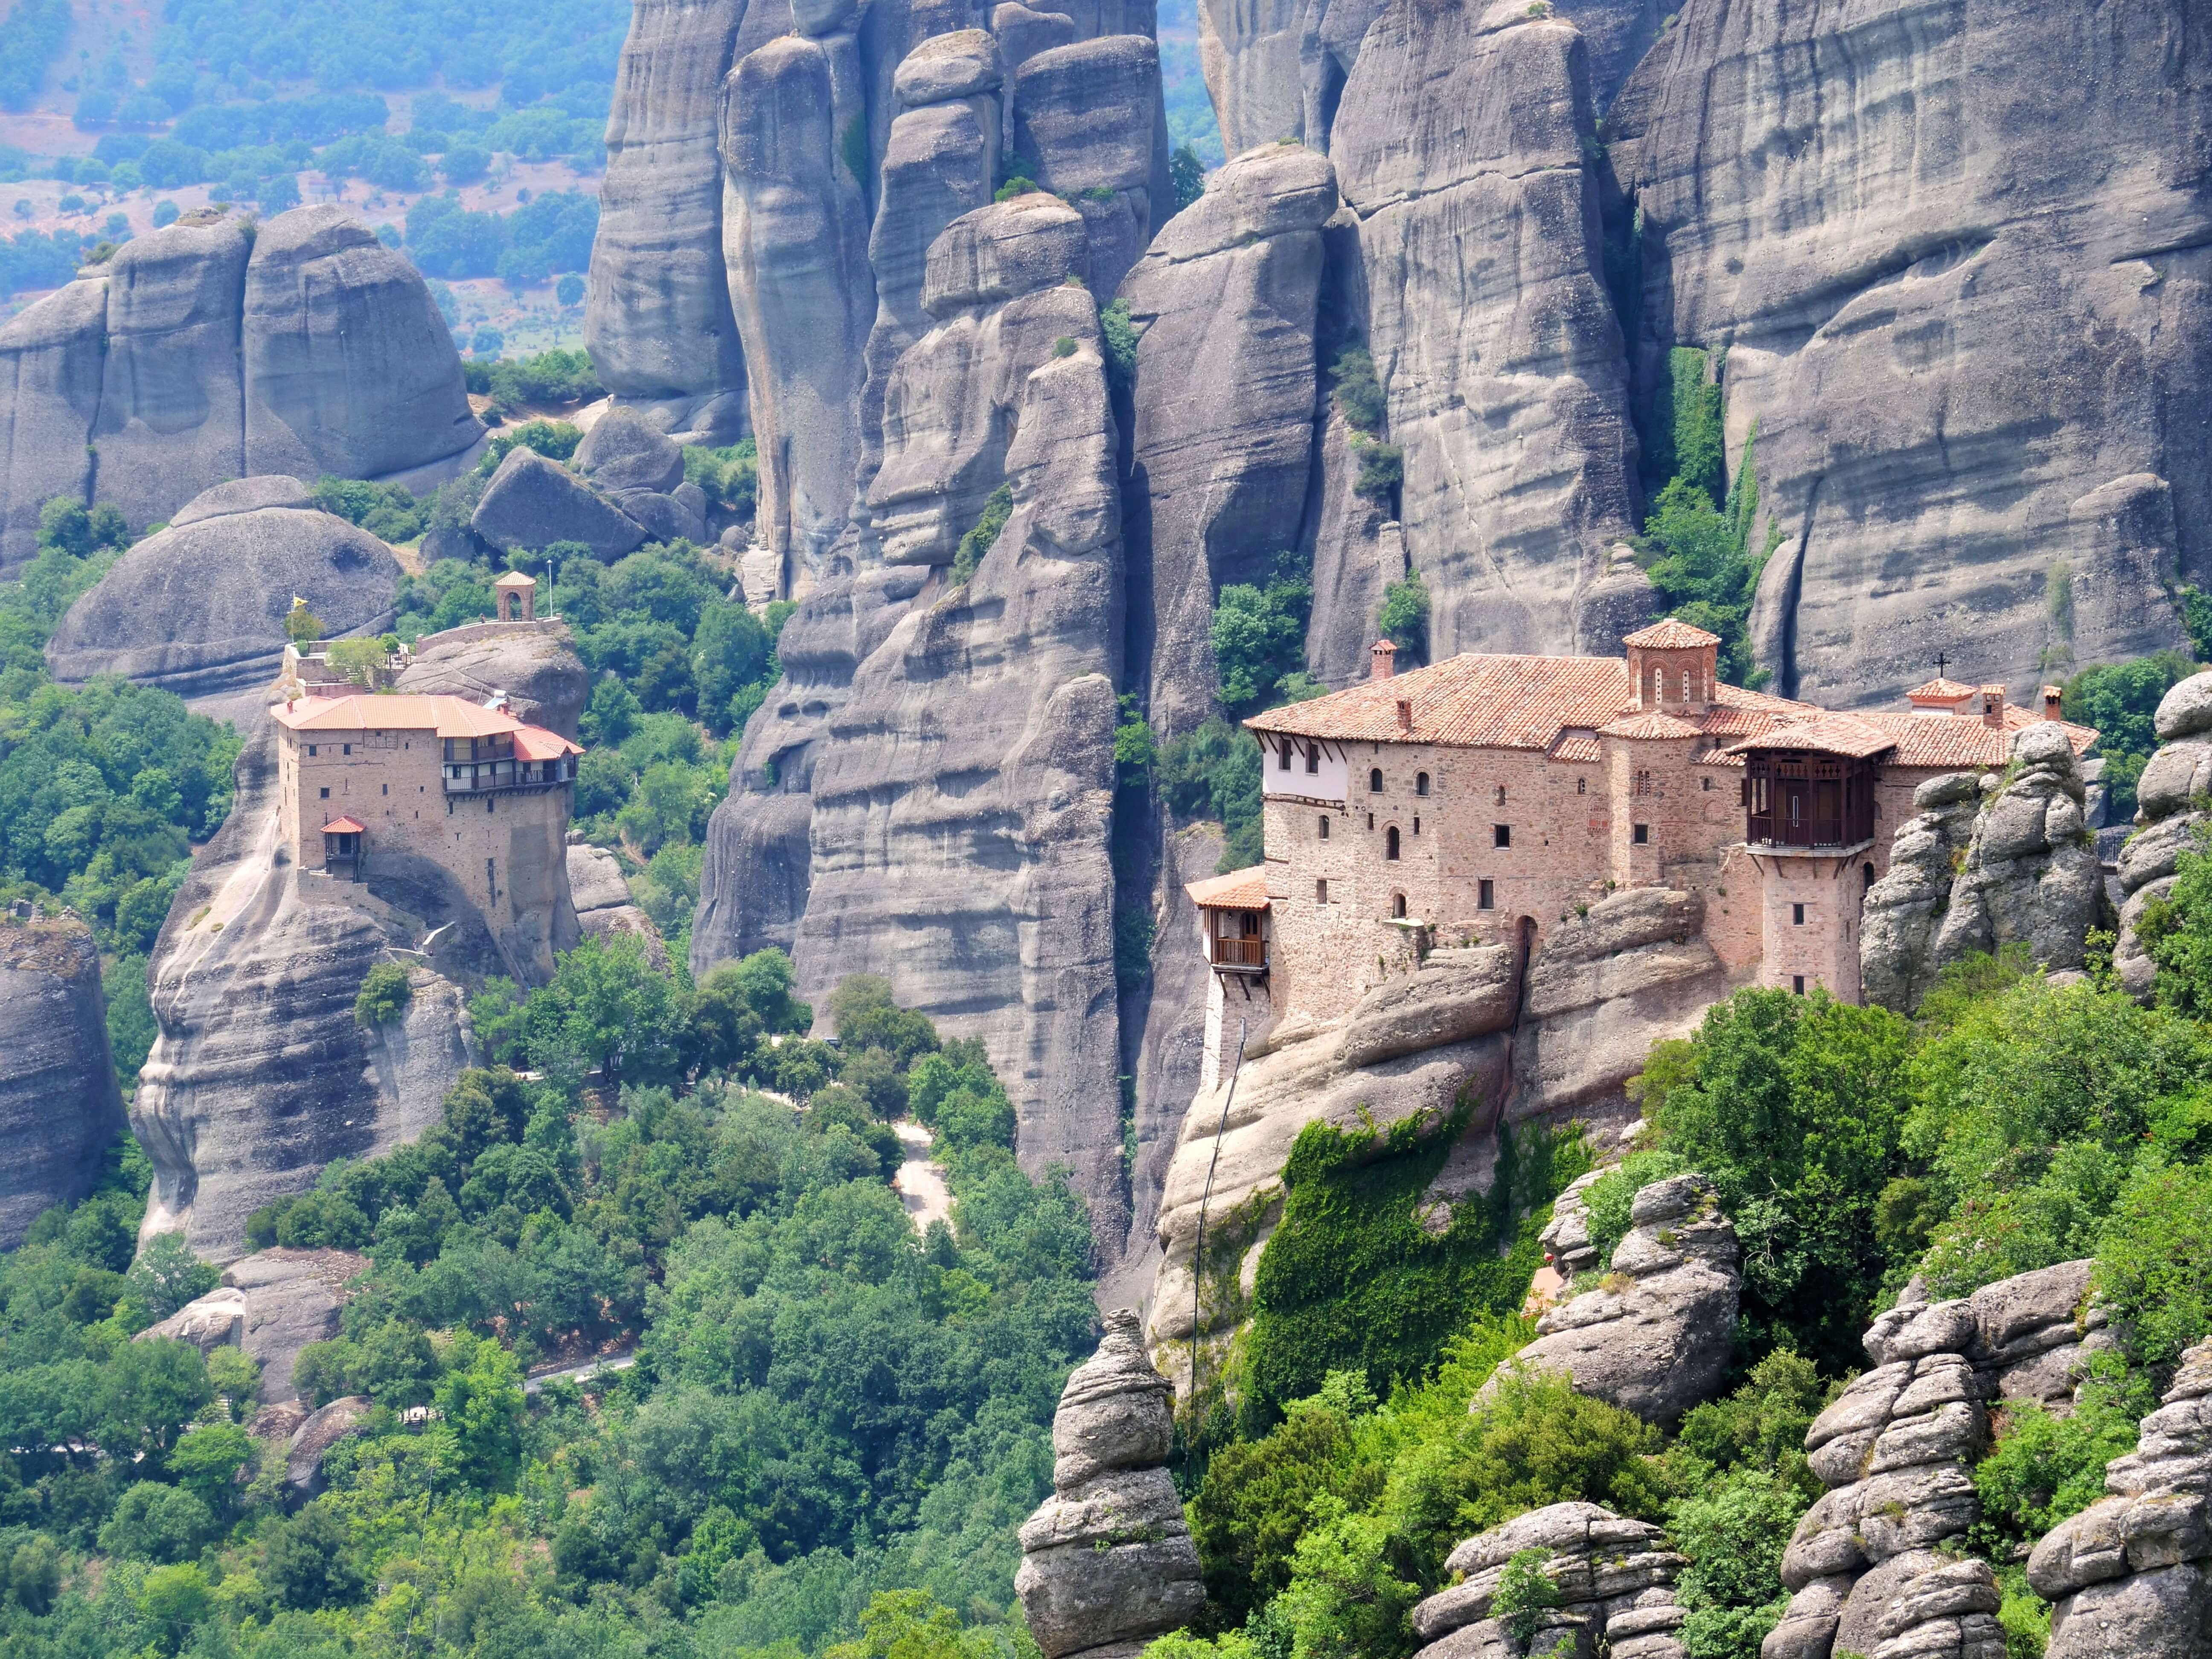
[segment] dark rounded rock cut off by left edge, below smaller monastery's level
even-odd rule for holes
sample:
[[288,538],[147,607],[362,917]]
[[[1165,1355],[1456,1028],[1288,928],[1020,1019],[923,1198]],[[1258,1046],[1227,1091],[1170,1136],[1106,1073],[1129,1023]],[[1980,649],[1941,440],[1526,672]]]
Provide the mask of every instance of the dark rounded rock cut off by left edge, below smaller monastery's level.
[[100,949],[73,920],[0,920],[0,1250],[82,1199],[122,1133]]

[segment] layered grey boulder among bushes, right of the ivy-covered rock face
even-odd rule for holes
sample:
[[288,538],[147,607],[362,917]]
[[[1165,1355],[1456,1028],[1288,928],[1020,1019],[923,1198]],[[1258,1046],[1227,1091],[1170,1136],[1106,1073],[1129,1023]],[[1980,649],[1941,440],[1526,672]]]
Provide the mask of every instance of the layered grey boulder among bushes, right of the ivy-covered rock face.
[[1703,1175],[1655,1181],[1628,1219],[1606,1281],[1551,1307],[1513,1365],[1564,1371],[1577,1394],[1672,1425],[1728,1374],[1743,1292],[1736,1228]]

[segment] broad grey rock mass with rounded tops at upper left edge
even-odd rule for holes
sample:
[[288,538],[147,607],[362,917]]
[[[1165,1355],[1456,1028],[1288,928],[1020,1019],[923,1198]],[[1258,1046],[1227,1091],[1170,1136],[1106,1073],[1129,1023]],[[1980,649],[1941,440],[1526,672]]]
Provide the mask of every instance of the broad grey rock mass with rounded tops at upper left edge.
[[0,330],[0,573],[51,495],[142,531],[250,473],[427,489],[484,436],[422,279],[332,206],[131,239]]

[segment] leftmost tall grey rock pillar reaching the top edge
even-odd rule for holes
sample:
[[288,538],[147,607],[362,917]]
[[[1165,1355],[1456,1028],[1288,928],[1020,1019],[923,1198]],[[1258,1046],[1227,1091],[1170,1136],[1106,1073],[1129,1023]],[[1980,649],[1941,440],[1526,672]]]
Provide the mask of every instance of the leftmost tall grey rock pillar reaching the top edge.
[[748,49],[741,35],[790,27],[787,11],[770,22],[776,11],[768,0],[639,0],[606,124],[584,345],[619,403],[717,445],[745,425],[721,263],[721,82]]

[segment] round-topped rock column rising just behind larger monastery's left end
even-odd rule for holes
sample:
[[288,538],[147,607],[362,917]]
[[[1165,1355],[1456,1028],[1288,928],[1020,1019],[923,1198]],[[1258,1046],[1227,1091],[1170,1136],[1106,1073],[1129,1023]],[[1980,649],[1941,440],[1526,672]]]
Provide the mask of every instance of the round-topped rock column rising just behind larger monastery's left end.
[[1336,175],[1272,144],[1208,179],[1121,283],[1139,330],[1130,571],[1150,714],[1214,712],[1214,593],[1298,546],[1314,462],[1316,327]]

